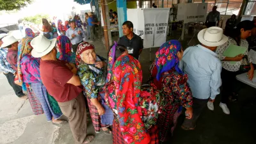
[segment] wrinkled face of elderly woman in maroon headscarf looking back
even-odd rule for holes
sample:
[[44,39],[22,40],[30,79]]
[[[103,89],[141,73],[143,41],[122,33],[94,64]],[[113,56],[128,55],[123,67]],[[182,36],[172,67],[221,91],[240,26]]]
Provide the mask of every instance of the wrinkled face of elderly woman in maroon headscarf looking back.
[[84,63],[95,64],[96,62],[96,53],[94,49],[88,49],[84,51],[82,54],[80,54],[80,56]]

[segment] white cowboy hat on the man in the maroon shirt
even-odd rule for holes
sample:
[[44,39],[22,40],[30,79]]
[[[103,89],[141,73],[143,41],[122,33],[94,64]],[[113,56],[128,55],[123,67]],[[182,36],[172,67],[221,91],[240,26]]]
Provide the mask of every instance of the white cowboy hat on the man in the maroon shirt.
[[47,38],[45,38],[45,36],[39,35],[33,38],[30,44],[31,47],[33,47],[33,50],[31,52],[32,56],[34,58],[41,58],[42,56],[45,56],[50,51],[52,51],[56,44],[56,38],[48,40]]

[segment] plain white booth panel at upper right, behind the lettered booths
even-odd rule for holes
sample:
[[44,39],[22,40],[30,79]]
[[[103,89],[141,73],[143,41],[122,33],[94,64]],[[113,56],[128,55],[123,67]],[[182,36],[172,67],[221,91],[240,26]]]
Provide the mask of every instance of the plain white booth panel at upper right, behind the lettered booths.
[[205,21],[207,17],[207,3],[179,3],[177,20],[188,22]]

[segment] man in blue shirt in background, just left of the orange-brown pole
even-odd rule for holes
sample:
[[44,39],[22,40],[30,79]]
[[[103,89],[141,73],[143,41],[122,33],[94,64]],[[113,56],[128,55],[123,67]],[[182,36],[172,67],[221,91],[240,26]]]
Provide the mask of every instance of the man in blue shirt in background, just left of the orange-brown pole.
[[99,25],[99,22],[96,22],[97,19],[93,17],[92,12],[89,12],[88,15],[89,15],[88,25],[90,26],[90,40],[93,41],[97,37],[95,33],[95,28],[96,28],[96,25]]

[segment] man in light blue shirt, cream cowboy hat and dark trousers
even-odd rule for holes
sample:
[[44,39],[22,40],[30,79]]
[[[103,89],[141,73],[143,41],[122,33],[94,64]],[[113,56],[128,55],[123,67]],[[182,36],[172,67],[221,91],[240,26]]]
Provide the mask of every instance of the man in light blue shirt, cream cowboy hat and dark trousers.
[[[188,74],[188,83],[193,94],[193,116],[185,119],[182,129],[195,129],[196,120],[205,108],[208,100],[211,103],[220,93],[221,61],[217,58],[217,47],[225,44],[228,37],[223,35],[223,29],[211,27],[202,29],[197,38],[201,44],[188,47],[184,51],[180,68]],[[211,106],[214,109],[213,103]]]

